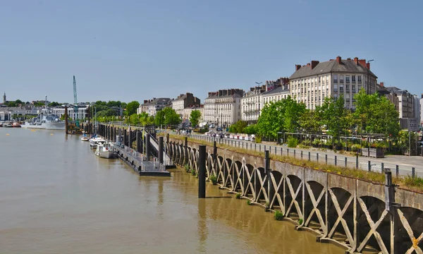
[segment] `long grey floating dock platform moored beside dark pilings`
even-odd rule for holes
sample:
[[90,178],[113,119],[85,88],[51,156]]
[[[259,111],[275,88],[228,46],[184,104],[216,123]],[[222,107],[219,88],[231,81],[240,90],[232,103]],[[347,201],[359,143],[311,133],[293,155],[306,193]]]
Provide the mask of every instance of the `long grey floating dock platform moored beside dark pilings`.
[[166,166],[157,161],[148,161],[145,155],[130,147],[114,143],[114,150],[119,159],[127,164],[139,176],[171,176]]

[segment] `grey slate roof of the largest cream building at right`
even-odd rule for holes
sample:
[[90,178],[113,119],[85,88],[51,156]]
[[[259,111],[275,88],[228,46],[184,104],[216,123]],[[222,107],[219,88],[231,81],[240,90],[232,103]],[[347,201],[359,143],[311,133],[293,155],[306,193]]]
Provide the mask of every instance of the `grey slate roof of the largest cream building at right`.
[[[367,74],[367,68],[364,68],[360,63],[356,64],[354,60],[341,59],[341,64],[333,59],[331,61],[325,61],[317,64],[312,69],[312,66],[301,66],[298,71],[295,71],[293,75],[289,77],[290,80],[295,78],[304,78],[312,75],[319,75],[325,73],[365,73]],[[369,71],[369,75],[374,75],[372,71]],[[376,77],[376,75],[374,75]],[[377,77],[376,77],[377,78]]]

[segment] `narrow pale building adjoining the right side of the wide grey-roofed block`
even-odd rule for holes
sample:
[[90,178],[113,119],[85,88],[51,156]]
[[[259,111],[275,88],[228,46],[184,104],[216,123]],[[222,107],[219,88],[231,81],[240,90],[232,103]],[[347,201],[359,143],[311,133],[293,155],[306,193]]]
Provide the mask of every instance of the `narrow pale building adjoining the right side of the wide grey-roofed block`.
[[266,85],[250,87],[250,91],[240,99],[241,104],[241,120],[247,123],[257,123],[259,112],[263,107],[262,93],[266,92]]

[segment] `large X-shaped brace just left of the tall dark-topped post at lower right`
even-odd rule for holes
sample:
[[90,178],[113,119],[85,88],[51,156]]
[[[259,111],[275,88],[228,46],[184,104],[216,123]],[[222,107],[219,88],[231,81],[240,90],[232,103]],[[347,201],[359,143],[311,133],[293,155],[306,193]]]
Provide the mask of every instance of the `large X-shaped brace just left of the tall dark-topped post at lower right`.
[[[367,206],[366,204],[364,204],[364,201],[361,198],[357,198],[358,202],[360,203],[360,207],[362,207],[362,210],[364,212],[364,214],[366,215],[366,219],[367,222],[369,222],[369,226],[370,226],[370,231],[369,233],[367,233],[367,236],[364,237],[363,241],[360,243],[360,246],[358,246],[357,250],[359,252],[361,252],[364,247],[367,244],[367,241],[369,241],[369,238],[374,235],[374,238],[376,238],[377,243],[379,244],[379,247],[381,248],[382,253],[388,253],[388,250],[386,249],[385,243],[384,241],[382,241],[381,238],[381,234],[379,234],[377,230],[377,228],[380,226],[380,224],[382,223],[382,221],[385,219],[386,214],[388,214],[388,211],[384,210],[384,212],[382,212],[381,217],[377,220],[376,223],[373,222],[372,217],[370,217],[370,212],[369,210],[367,210]],[[377,205],[373,206],[374,208],[372,208],[372,210],[377,208]]]

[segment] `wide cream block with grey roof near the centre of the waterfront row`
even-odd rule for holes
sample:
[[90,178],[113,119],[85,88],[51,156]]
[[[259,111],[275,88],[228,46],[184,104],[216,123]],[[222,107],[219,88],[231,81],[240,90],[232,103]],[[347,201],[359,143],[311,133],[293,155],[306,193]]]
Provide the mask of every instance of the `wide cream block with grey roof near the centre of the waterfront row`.
[[204,100],[204,121],[217,126],[236,123],[241,119],[240,99],[243,95],[242,89],[209,92],[209,97]]

